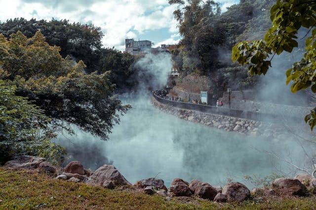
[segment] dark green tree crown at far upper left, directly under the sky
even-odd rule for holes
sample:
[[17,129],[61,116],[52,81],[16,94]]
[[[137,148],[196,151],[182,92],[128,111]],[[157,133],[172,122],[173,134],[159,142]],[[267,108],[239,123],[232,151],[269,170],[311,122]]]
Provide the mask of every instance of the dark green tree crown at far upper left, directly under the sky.
[[12,33],[21,31],[27,38],[31,38],[40,30],[51,46],[59,46],[63,58],[71,55],[76,61],[83,60],[87,71],[93,72],[98,68],[103,34],[101,28],[92,24],[71,24],[67,20],[54,20],[47,22],[36,19],[26,20],[14,18],[0,23],[0,33],[9,38]]

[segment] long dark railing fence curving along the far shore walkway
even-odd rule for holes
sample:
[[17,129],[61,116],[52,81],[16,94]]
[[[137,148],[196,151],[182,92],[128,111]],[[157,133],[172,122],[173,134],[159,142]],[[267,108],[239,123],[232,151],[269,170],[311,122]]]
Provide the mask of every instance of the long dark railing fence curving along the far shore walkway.
[[201,104],[193,104],[193,103],[185,103],[185,102],[178,102],[172,101],[164,98],[160,98],[159,96],[153,93],[155,99],[163,104],[173,106],[180,109],[188,109],[188,110],[195,110],[200,112],[205,112],[214,115],[223,115],[228,117],[234,118],[242,118],[247,120],[256,120],[256,121],[264,121],[264,122],[271,122],[276,124],[286,124],[289,126],[297,126],[297,125],[304,125],[304,116],[296,117],[296,116],[283,116],[283,115],[275,115],[269,113],[261,113],[261,112],[252,112],[246,110],[235,110],[235,109],[228,109],[216,106],[207,106]]

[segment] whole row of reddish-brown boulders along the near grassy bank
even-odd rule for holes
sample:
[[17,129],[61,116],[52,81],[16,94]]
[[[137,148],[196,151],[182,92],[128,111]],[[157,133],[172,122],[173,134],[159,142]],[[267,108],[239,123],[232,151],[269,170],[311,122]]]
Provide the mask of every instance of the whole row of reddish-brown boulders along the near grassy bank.
[[163,196],[166,201],[178,197],[179,199],[203,199],[217,203],[235,203],[248,199],[260,200],[263,199],[263,196],[310,196],[316,193],[316,179],[307,174],[298,175],[294,179],[276,179],[270,187],[254,188],[250,191],[239,182],[228,182],[222,188],[199,180],[187,182],[180,178],[175,178],[169,188],[164,185],[163,180],[156,178],[139,180],[131,184],[113,165],[103,165],[93,172],[84,169],[79,161],[72,161],[62,168],[51,165],[44,158],[29,155],[22,155],[10,160],[4,167],[7,170],[34,170],[39,173],[47,173],[55,180],[81,182],[148,195],[157,194]]

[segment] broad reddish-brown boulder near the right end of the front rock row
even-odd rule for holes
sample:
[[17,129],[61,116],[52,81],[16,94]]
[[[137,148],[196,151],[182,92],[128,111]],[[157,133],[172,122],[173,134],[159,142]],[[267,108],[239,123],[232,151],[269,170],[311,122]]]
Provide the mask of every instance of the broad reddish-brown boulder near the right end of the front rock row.
[[272,182],[272,188],[289,195],[305,195],[306,187],[300,180],[291,178],[279,178]]

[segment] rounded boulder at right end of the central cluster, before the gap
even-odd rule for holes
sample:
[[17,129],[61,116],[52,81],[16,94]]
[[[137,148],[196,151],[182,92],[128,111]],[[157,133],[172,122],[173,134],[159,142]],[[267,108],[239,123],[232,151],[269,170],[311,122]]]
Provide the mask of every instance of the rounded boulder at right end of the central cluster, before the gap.
[[224,186],[223,194],[227,196],[228,201],[241,202],[249,198],[250,190],[239,182],[231,182]]

